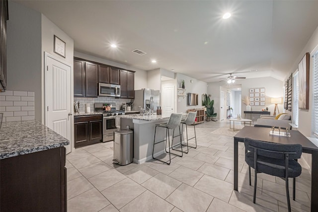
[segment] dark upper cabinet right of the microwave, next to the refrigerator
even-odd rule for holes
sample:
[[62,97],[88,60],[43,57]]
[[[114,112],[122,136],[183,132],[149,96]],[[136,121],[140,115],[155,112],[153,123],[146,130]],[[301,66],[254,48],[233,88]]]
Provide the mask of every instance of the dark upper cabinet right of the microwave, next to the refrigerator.
[[127,99],[135,98],[135,72],[120,71],[120,97]]

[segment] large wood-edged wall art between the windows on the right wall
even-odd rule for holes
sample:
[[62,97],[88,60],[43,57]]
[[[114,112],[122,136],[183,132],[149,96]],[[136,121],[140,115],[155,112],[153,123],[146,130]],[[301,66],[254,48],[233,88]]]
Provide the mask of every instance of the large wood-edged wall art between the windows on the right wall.
[[298,64],[299,108],[309,109],[309,53]]

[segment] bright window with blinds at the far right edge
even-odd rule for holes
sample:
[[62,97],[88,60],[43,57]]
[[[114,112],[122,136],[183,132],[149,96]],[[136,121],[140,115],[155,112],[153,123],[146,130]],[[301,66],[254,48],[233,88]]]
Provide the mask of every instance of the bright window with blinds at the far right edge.
[[318,51],[313,56],[313,134],[318,136]]

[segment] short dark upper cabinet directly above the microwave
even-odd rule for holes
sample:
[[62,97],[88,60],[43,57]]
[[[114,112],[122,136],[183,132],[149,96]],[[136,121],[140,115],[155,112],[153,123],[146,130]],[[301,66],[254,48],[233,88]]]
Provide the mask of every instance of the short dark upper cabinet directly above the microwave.
[[119,69],[98,65],[98,82],[119,84]]

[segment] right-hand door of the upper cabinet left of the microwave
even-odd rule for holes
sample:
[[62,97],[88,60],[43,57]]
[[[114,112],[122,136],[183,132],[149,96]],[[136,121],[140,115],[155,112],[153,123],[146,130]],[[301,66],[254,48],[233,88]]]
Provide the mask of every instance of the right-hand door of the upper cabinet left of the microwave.
[[98,65],[85,62],[86,97],[97,97]]

